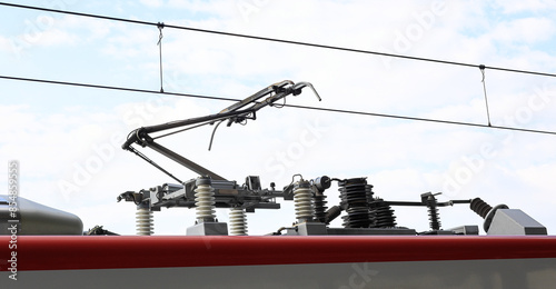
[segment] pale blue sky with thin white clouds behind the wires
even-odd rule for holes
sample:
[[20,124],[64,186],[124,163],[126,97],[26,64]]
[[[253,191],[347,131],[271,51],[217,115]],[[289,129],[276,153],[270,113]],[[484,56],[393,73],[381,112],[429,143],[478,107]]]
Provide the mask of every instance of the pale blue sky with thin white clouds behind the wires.
[[[162,29],[166,92],[244,99],[282,80],[308,81],[288,104],[556,131],[553,1],[18,1],[82,13],[485,64],[458,67],[314,47]],[[0,6],[0,76],[160,89],[157,27]],[[135,233],[135,206],[118,195],[175,182],[121,150],[133,129],[216,113],[230,101],[0,79],[0,187],[20,163],[20,197]],[[178,133],[161,143],[242,183],[282,188],[300,173],[366,177],[375,196],[419,201],[479,197],[522,209],[555,232],[556,136],[415,120],[265,108],[246,126]],[[182,180],[198,176],[142,150]],[[0,166],[1,167],[1,166]],[[7,189],[6,189],[7,190]],[[337,186],[326,191],[339,202]],[[291,201],[248,213],[250,235],[295,221]],[[428,230],[425,208],[395,207],[398,226]],[[228,211],[218,209],[219,220]],[[441,227],[478,225],[467,205],[440,209]],[[155,235],[185,235],[195,211],[155,212]],[[338,218],[331,225],[340,227]],[[481,231],[481,233],[484,233]]]

